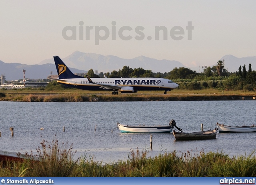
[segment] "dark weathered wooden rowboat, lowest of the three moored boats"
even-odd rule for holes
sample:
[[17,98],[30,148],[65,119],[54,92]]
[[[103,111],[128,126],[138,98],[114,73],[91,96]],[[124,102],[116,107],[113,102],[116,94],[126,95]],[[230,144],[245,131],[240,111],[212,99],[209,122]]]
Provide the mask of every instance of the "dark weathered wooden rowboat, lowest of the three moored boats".
[[191,132],[191,133],[184,133],[184,132],[176,132],[173,131],[173,135],[175,140],[211,140],[216,139],[217,129],[214,130],[207,130],[201,132]]

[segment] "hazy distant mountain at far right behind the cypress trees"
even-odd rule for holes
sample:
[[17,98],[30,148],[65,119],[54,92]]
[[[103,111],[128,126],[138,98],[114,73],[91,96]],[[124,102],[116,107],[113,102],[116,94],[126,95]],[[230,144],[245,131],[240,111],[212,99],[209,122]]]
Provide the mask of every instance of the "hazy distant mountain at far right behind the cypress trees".
[[256,70],[256,56],[237,58],[233,55],[225,55],[220,60],[224,60],[225,69],[227,69],[229,72],[238,71],[238,68],[240,67],[240,65],[242,67],[243,67],[243,65],[245,65],[246,66],[246,71],[248,71],[249,63],[252,65],[252,70]]

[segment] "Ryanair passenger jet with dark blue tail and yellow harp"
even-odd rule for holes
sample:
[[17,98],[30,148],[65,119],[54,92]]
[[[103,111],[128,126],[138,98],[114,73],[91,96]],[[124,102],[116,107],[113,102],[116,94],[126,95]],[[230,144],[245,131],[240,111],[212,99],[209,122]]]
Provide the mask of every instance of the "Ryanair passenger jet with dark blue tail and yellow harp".
[[162,78],[90,78],[88,75],[80,77],[68,69],[58,56],[53,56],[59,79],[59,84],[88,91],[113,91],[112,94],[137,93],[138,91],[167,91],[179,85],[168,79]]

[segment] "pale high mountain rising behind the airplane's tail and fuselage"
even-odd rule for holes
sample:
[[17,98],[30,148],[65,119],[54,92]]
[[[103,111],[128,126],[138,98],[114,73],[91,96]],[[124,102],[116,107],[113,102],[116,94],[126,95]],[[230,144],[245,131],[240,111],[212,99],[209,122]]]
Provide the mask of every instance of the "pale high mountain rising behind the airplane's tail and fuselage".
[[[93,69],[94,72],[98,70],[100,72],[111,72],[118,71],[122,69],[125,65],[130,68],[139,68],[150,69],[153,72],[170,72],[175,67],[184,67],[182,63],[178,61],[170,61],[170,60],[157,60],[144,56],[136,57],[133,59],[122,59],[113,55],[99,55],[95,53],[82,53],[80,51],[75,51],[68,57],[62,58],[59,56],[62,61],[68,66],[76,69],[83,69],[88,71],[89,69]],[[47,59],[39,64],[51,63],[54,64],[54,59]]]

